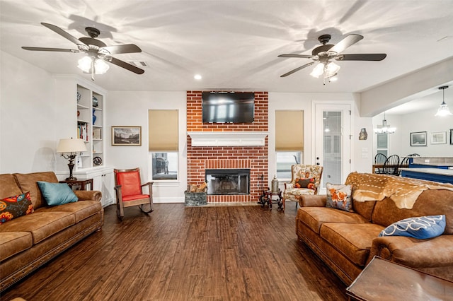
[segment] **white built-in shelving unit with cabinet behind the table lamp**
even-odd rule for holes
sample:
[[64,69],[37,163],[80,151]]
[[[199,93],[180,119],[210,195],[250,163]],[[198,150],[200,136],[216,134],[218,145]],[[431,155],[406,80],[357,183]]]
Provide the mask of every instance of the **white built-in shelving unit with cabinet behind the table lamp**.
[[[104,153],[106,91],[80,78],[55,76],[55,93],[59,95],[55,110],[61,124],[56,129],[57,138],[81,138],[87,149],[76,157],[74,177],[93,179],[93,190],[102,192],[104,207],[115,203],[113,167],[106,165]],[[55,173],[59,179],[69,175],[67,163],[57,158]]]

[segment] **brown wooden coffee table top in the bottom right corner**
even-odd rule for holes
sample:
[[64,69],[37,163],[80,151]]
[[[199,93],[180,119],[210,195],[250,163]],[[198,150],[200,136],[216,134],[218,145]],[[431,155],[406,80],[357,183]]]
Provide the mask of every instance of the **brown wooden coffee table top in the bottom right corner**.
[[346,294],[349,300],[453,300],[453,282],[376,256]]

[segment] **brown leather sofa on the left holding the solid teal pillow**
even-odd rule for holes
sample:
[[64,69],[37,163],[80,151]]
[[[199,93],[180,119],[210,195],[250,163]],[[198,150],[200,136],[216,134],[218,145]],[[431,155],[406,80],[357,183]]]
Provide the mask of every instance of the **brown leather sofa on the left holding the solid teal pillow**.
[[37,181],[54,172],[0,175],[0,199],[30,191],[34,213],[0,225],[0,292],[103,225],[101,191],[74,191],[79,201],[47,206]]

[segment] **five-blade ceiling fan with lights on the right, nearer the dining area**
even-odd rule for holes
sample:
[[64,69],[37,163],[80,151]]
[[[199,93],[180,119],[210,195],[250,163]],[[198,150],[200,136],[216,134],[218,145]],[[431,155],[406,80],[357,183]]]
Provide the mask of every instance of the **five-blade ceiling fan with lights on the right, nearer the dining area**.
[[331,40],[331,35],[321,35],[318,37],[321,46],[316,47],[309,54],[280,54],[278,57],[297,57],[302,59],[313,59],[313,61],[303,66],[292,69],[291,71],[282,74],[280,77],[289,76],[294,72],[302,70],[308,66],[315,64],[317,61],[318,65],[310,73],[311,76],[318,78],[323,75],[324,84],[326,79],[329,81],[334,79],[340,69],[340,66],[333,63],[333,60],[336,61],[382,61],[385,59],[387,54],[384,53],[373,53],[373,54],[341,54],[343,50],[354,45],[363,39],[362,35],[351,34],[347,35],[343,40],[338,42],[336,45],[327,44]]

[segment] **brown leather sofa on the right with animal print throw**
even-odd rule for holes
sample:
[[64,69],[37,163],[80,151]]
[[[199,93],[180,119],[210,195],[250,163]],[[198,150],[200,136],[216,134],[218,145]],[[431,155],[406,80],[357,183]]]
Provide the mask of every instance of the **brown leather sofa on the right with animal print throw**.
[[[374,256],[453,281],[452,184],[357,172],[345,184],[352,185],[355,212],[326,208],[325,195],[301,196],[296,233],[346,285]],[[446,218],[440,236],[378,237],[398,220],[440,214]]]

